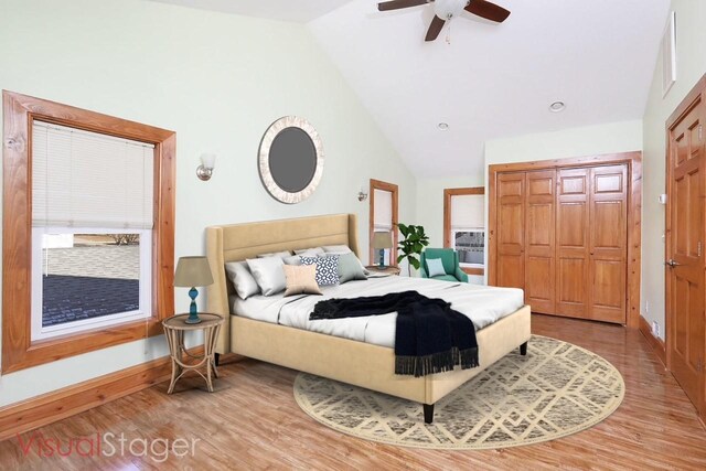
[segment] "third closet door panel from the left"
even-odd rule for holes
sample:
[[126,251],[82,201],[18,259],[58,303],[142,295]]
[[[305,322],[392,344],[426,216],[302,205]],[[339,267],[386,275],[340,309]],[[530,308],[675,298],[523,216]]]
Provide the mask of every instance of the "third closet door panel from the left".
[[589,319],[590,169],[557,173],[556,314]]

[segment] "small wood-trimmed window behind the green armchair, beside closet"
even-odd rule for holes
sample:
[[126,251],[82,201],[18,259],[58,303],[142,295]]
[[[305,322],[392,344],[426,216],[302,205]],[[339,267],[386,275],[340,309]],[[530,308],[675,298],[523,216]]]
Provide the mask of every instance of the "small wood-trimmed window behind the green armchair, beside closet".
[[482,275],[485,260],[483,189],[447,189],[443,194],[445,246],[458,251],[464,271]]

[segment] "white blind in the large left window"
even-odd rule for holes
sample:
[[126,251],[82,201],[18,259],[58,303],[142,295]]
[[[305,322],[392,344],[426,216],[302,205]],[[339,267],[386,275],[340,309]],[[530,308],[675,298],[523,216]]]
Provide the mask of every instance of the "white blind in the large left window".
[[34,226],[152,228],[154,146],[34,121]]

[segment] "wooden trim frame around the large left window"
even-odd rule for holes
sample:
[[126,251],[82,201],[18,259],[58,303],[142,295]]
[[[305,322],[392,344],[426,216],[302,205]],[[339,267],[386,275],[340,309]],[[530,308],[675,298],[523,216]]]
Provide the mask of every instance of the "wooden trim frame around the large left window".
[[[174,313],[173,131],[40,98],[2,92],[3,237],[2,371],[15,372],[162,333]],[[53,339],[31,340],[32,124],[34,119],[154,144],[152,315],[147,320]]]

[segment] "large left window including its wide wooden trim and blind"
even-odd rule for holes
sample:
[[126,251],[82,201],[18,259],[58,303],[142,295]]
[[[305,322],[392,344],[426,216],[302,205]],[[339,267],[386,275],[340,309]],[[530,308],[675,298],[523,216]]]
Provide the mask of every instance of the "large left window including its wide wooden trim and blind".
[[10,92],[3,106],[2,371],[160,334],[174,133]]

